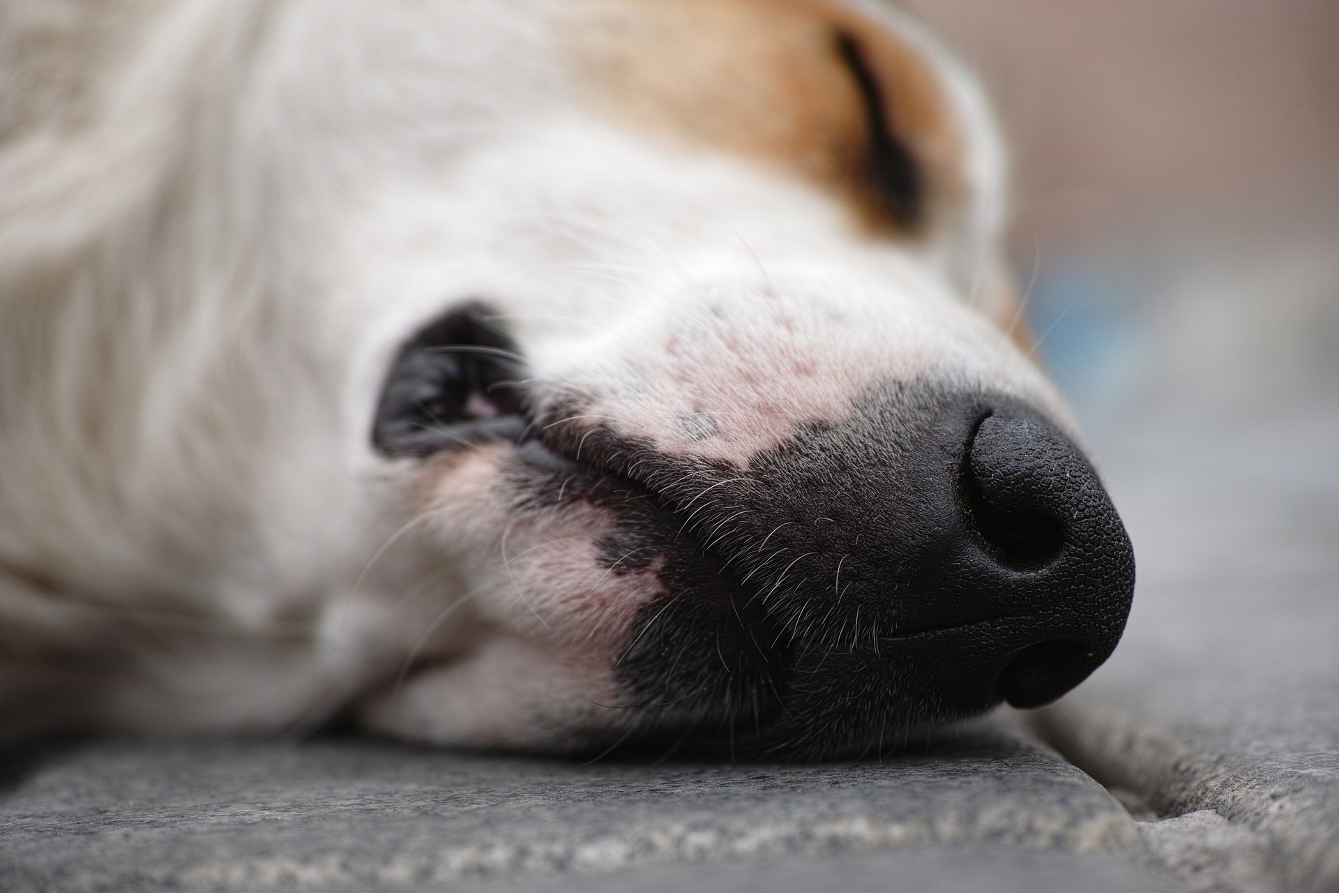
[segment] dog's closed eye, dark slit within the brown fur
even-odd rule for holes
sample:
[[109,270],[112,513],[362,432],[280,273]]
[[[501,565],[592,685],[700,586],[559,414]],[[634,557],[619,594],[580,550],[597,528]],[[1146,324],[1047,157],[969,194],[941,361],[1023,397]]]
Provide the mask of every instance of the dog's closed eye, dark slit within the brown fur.
[[884,88],[870,71],[860,43],[846,31],[837,32],[836,43],[837,55],[850,71],[865,106],[869,137],[862,173],[873,185],[882,210],[894,222],[915,226],[921,221],[925,204],[920,165],[893,130]]

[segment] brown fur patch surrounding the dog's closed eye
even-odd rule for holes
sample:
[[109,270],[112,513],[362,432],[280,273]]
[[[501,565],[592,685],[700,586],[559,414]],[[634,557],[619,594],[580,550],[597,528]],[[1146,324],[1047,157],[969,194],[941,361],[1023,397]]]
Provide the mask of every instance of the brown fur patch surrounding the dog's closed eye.
[[[578,83],[603,114],[758,159],[908,229],[870,175],[870,115],[840,42],[877,82],[915,158],[925,229],[960,193],[961,134],[936,74],[886,28],[828,0],[586,0],[569,19]],[[928,218],[928,220],[927,220]]]

